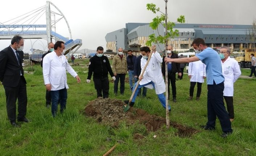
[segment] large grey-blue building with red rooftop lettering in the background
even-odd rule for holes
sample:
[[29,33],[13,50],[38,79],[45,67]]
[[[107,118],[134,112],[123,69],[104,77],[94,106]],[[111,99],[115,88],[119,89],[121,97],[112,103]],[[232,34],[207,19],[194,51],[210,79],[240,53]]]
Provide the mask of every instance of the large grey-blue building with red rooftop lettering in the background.
[[[176,24],[174,29],[179,31],[179,36],[171,38],[169,45],[176,51],[187,51],[192,47],[194,38],[203,38],[205,43],[212,48],[219,49],[227,46],[231,51],[251,48],[249,29],[252,25],[225,25],[225,24]],[[129,49],[129,45],[139,44],[146,46],[150,34],[164,35],[165,28],[160,25],[157,30],[150,28],[149,23],[127,23],[125,28],[107,33],[107,49],[117,51],[119,47]],[[163,51],[164,45],[157,45],[157,51]]]

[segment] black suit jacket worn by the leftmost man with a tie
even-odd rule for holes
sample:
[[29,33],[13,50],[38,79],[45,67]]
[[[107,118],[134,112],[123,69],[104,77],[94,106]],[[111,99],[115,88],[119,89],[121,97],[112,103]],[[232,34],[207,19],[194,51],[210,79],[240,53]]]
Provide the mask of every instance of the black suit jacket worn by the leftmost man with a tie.
[[[22,60],[24,58],[23,51],[18,51],[20,56],[20,64],[11,48],[11,46],[0,51],[0,81],[8,87],[17,87],[20,79],[24,79],[24,71],[22,68]],[[20,76],[20,72],[22,76]]]

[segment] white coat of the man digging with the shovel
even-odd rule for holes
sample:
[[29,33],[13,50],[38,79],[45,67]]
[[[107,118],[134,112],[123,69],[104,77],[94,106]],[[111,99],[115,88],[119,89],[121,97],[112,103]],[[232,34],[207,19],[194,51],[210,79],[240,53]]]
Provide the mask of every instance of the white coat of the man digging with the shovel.
[[[143,79],[140,81],[140,85],[144,85],[152,81],[155,85],[156,94],[162,94],[165,92],[165,83],[161,71],[162,61],[163,60],[157,51],[153,53],[143,74]],[[141,58],[141,72],[143,71],[146,62],[146,59]],[[145,87],[152,89],[153,85],[150,84]]]

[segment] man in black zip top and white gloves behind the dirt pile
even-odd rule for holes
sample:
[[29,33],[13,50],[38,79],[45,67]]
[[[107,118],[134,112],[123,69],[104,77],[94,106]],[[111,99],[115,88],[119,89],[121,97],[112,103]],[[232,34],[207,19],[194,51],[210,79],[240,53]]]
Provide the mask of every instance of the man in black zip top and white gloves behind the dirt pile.
[[108,73],[110,73],[112,79],[116,78],[110,67],[110,62],[107,56],[103,55],[103,47],[97,48],[97,54],[90,59],[89,71],[87,76],[87,83],[90,83],[93,72],[94,87],[97,91],[97,97],[108,98],[108,92],[110,89]]

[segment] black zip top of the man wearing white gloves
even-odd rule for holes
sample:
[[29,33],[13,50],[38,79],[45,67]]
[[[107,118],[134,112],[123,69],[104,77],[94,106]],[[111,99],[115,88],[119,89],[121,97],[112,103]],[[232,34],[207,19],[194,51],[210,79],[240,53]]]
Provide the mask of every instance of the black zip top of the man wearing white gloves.
[[91,80],[92,72],[93,77],[96,79],[108,77],[108,72],[110,73],[111,77],[114,76],[110,67],[110,62],[107,56],[104,55],[102,57],[95,55],[90,59],[87,80]]

